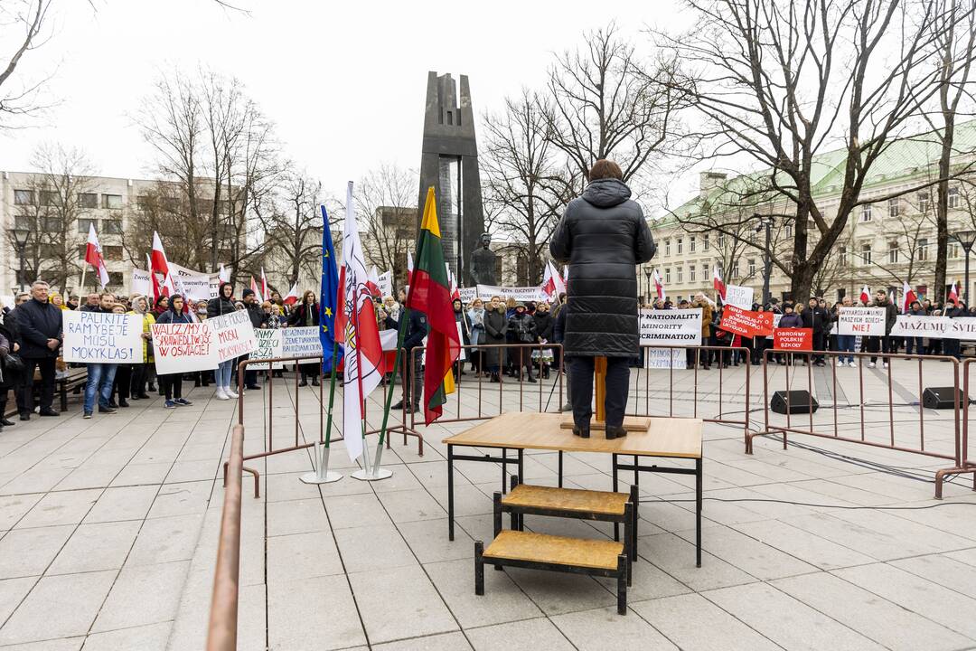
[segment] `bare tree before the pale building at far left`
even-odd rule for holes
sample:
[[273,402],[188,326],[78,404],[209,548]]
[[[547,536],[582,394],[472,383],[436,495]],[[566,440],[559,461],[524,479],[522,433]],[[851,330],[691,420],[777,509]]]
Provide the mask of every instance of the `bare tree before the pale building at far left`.
[[[29,197],[19,197],[14,215],[15,227],[30,233],[23,280],[43,278],[63,292],[84,264],[88,229],[80,228],[78,220],[97,207],[94,172],[84,152],[60,144],[38,147],[31,164],[38,172],[20,189]],[[13,232],[5,237],[16,251]]]

